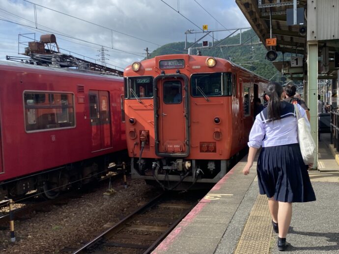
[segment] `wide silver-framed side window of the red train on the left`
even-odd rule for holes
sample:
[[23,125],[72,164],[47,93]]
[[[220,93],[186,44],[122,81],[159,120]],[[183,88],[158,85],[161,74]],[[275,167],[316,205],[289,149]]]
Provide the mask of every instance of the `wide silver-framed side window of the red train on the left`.
[[75,126],[73,94],[25,92],[24,105],[28,132]]

